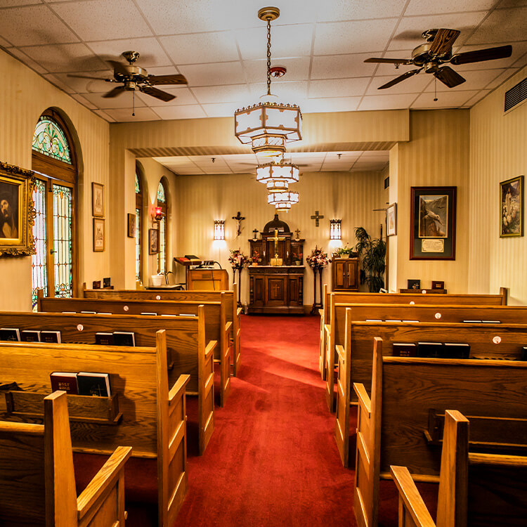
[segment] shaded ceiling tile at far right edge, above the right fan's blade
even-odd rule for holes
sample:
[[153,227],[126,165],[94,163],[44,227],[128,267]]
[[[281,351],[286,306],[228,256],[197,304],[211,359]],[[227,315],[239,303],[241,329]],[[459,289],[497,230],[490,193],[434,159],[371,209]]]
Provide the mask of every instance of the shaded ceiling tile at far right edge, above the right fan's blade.
[[483,21],[467,44],[490,44],[526,39],[527,6],[496,9]]

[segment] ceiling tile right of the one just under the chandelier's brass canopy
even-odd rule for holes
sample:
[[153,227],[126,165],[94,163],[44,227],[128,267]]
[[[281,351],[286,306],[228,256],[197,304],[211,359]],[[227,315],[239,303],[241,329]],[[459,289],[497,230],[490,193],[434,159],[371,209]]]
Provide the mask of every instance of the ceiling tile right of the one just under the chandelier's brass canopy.
[[315,32],[315,55],[369,53],[384,49],[396,26],[396,18],[367,22],[329,22],[318,24]]

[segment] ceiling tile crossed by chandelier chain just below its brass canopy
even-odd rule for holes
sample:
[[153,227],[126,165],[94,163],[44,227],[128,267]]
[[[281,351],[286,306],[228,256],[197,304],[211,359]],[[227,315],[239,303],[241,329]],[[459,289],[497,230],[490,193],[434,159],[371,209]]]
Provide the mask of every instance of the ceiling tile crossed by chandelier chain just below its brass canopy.
[[[265,25],[235,32],[243,60],[266,58],[267,30]],[[274,25],[271,30],[273,59],[311,55],[313,24]]]

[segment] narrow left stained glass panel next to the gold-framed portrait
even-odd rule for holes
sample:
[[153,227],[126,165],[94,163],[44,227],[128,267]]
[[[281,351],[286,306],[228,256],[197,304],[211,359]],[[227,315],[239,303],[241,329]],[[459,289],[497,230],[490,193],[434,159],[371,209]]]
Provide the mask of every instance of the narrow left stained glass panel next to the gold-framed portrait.
[[37,311],[37,289],[44,289],[48,296],[48,271],[46,251],[46,183],[37,179],[33,188],[34,219],[33,236],[36,254],[31,256],[32,306]]

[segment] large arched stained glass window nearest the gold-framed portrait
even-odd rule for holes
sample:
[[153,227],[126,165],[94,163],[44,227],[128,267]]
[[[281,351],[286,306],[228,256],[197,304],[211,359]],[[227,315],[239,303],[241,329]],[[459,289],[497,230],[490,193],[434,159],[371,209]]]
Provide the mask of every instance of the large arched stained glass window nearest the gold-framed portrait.
[[37,289],[50,297],[72,297],[77,289],[77,156],[70,131],[55,110],[46,110],[35,126],[32,169],[37,172],[33,191],[37,254],[31,257],[35,308]]

